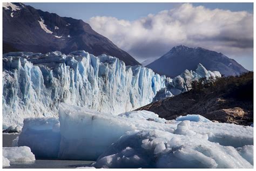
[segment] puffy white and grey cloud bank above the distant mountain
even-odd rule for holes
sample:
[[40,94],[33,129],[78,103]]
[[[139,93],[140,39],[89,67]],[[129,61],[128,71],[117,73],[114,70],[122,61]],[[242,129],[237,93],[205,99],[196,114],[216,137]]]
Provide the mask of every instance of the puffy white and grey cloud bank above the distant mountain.
[[96,16],[89,24],[139,61],[157,58],[180,44],[231,58],[253,56],[253,14],[246,11],[210,10],[186,3],[134,21]]

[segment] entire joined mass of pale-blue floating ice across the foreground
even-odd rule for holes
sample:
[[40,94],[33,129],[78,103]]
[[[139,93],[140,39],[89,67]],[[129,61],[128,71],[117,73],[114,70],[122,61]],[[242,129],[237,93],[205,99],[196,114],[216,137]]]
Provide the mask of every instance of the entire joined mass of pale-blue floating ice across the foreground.
[[18,146],[45,158],[96,160],[88,165],[95,168],[253,168],[251,126],[205,122],[200,115],[178,121],[147,111],[114,116],[59,106],[58,119],[25,119]]

